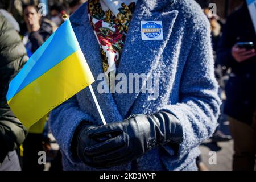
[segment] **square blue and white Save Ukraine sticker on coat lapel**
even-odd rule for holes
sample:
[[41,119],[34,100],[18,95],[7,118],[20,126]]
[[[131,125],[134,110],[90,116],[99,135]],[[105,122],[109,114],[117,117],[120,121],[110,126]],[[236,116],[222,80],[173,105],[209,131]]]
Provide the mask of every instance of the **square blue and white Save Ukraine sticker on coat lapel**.
[[141,21],[142,40],[163,40],[162,21]]

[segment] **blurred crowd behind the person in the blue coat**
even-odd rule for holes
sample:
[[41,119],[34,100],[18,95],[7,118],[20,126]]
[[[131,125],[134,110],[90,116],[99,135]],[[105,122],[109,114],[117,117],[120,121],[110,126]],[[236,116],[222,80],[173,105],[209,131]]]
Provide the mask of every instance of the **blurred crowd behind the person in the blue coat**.
[[[18,32],[22,38],[22,44],[26,48],[26,54],[30,57],[49,38],[56,28],[63,23],[62,16],[64,14],[71,15],[84,2],[86,0],[0,0],[0,15],[4,16],[11,27]],[[209,19],[212,28],[212,47],[216,60],[214,66],[216,68],[216,78],[220,84],[220,97],[224,103],[222,114],[225,113],[228,115],[232,134],[232,136],[224,134],[217,128],[211,140],[212,142],[225,142],[231,140],[233,137],[235,151],[233,169],[253,170],[255,162],[256,117],[256,39],[253,23],[251,23],[245,1],[201,0],[197,2]],[[217,14],[214,14],[214,11],[209,7],[210,3],[216,3]],[[43,9],[41,9],[42,5],[45,5]],[[42,13],[45,16],[42,16]],[[3,30],[6,20],[0,20],[0,32]],[[2,36],[2,34],[0,35]],[[7,35],[7,37],[7,41],[9,42],[15,38],[13,35]],[[0,40],[2,41],[2,39]],[[14,42],[19,42],[19,40],[14,40]],[[254,45],[251,47],[238,47],[237,42],[253,42]],[[0,47],[1,44],[2,42],[0,43]],[[15,64],[21,66],[23,62],[20,59],[21,57],[24,59],[24,53],[20,50],[16,46],[11,51],[13,54],[17,52],[16,57],[19,57],[19,61],[15,62]],[[2,57],[0,56],[0,59]],[[1,105],[6,105],[4,103],[6,102],[6,88],[2,88],[2,83],[7,85],[7,82],[13,77],[14,72],[18,72],[19,70],[15,68],[15,71],[10,74],[9,80],[6,78],[8,81],[2,80],[2,75],[6,75],[5,65],[0,63]],[[14,64],[9,64],[9,67],[11,66],[14,66]],[[3,111],[0,115],[2,115],[0,120],[5,120],[5,117],[3,117],[5,116],[5,112]],[[20,131],[13,132],[13,135],[16,136],[16,139],[13,139],[13,143],[15,144],[8,146],[8,144],[4,145],[0,142],[0,163],[2,163],[0,169],[43,170],[44,165],[38,164],[38,151],[47,152],[48,157],[51,158],[51,170],[62,169],[60,151],[53,152],[51,148],[52,140],[49,138],[50,131],[47,124],[47,115],[41,119],[42,121],[37,126],[32,127],[28,131],[22,126],[15,128],[13,126],[16,125],[15,119],[10,119],[9,117],[7,120],[12,122],[12,124],[6,126],[5,122],[0,122],[0,126],[3,125],[0,127],[0,133],[6,130],[6,128],[10,132],[11,130]],[[26,135],[26,139],[24,139],[23,135],[16,134],[20,132],[23,132],[24,136]],[[247,135],[247,137],[241,139],[241,136],[244,135]],[[2,141],[6,142],[7,139],[2,139]],[[19,147],[20,144],[22,144],[21,147]],[[5,147],[6,150],[4,150]],[[17,151],[17,155],[10,154],[10,151],[14,149]],[[11,155],[15,155],[17,160],[19,159],[19,167],[16,167],[17,164],[3,165],[6,161],[8,162],[6,159],[7,157],[11,157]],[[198,165],[199,169],[203,167],[201,166],[200,157],[198,158]],[[10,166],[13,166],[13,168]]]

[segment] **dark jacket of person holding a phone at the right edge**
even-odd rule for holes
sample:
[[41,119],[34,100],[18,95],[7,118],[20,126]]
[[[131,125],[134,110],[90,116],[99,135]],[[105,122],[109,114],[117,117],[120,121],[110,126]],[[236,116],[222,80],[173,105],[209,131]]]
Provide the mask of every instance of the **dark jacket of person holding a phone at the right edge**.
[[231,54],[234,44],[245,41],[254,42],[256,49],[256,35],[246,4],[228,17],[218,45],[217,62],[232,68],[226,84],[224,112],[250,125],[256,105],[256,56],[238,63]]

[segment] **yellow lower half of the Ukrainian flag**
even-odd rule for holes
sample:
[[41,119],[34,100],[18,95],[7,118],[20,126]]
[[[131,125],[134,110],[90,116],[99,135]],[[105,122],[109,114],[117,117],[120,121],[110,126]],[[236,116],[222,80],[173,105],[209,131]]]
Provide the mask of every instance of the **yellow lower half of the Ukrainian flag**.
[[20,90],[8,104],[29,127],[92,82],[94,78],[79,49]]

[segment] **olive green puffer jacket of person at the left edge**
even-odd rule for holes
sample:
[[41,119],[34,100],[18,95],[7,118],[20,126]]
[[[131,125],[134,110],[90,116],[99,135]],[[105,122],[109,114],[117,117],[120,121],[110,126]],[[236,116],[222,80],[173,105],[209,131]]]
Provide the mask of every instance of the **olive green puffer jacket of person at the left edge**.
[[28,60],[19,34],[0,15],[0,163],[9,151],[20,146],[26,129],[14,116],[6,101],[9,82]]

